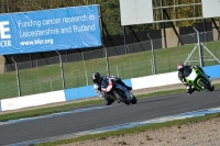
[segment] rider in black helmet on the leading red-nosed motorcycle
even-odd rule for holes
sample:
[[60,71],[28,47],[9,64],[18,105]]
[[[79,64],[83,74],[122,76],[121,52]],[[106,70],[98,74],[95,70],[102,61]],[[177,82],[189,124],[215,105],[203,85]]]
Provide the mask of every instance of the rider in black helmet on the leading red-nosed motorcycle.
[[120,78],[116,77],[116,76],[100,76],[99,72],[95,72],[92,74],[92,81],[94,81],[94,89],[97,91],[97,93],[99,94],[100,98],[105,98],[105,103],[107,105],[110,105],[114,102],[113,99],[109,98],[109,96],[105,92],[101,91],[101,81],[105,78],[110,78],[113,79],[117,83],[125,87],[128,90],[132,90],[131,87],[128,87]]

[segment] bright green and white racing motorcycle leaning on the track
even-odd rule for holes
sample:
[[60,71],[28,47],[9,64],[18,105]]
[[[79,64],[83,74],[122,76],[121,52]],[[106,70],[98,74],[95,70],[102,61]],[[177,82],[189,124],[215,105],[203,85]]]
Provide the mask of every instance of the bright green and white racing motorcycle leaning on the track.
[[194,86],[197,90],[209,90],[213,91],[215,87],[211,85],[211,81],[202,71],[198,68],[186,68],[184,70],[184,76],[187,83]]

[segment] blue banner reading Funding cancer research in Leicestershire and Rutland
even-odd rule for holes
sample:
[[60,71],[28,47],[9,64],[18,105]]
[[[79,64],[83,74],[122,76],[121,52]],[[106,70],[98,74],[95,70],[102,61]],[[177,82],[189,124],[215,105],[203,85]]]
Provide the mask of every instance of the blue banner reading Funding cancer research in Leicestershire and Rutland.
[[98,5],[0,15],[0,55],[101,46]]

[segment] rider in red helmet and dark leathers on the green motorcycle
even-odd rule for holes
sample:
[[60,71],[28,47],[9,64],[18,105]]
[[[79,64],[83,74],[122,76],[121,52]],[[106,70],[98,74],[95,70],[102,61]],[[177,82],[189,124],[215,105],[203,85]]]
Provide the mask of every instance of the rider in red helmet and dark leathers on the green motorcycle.
[[[205,74],[205,71],[202,70],[202,68],[201,67],[199,67],[199,66],[185,66],[184,64],[178,64],[177,65],[177,69],[178,69],[178,78],[179,78],[179,80],[186,86],[186,92],[188,93],[188,94],[191,94],[195,90],[197,90],[196,88],[194,88],[194,87],[191,87],[190,85],[188,85],[187,83],[187,81],[186,81],[186,79],[185,79],[185,77],[184,77],[184,70],[186,69],[186,68],[197,68],[197,69],[199,69],[201,72],[204,72]],[[205,74],[206,75],[206,74]],[[207,77],[208,78],[210,78],[208,75],[207,75]],[[198,90],[199,91],[199,90]]]

